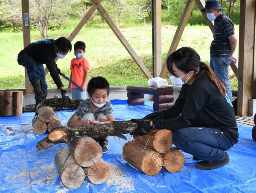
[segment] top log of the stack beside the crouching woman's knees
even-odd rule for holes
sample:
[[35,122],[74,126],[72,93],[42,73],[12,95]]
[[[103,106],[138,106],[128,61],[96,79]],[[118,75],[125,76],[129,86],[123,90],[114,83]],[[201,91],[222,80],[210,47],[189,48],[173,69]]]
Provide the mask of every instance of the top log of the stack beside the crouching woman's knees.
[[[171,149],[171,146],[173,145],[173,140],[172,138],[172,133],[170,130],[167,129],[162,129],[162,130],[150,130],[147,135],[134,135],[133,136],[134,140],[142,143],[142,145],[146,145],[147,141],[147,147],[150,149],[153,149],[157,152],[161,150],[161,153],[166,153],[168,152],[168,149]],[[150,138],[148,140],[148,138]],[[166,145],[168,147],[166,147]]]

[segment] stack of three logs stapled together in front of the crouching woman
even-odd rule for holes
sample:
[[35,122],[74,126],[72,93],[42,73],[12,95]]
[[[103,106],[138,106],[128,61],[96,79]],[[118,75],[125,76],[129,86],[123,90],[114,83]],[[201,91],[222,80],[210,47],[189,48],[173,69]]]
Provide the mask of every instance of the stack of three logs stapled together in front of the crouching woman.
[[134,136],[123,147],[123,158],[143,173],[157,175],[162,166],[169,172],[183,168],[184,154],[172,147],[170,130],[151,130],[147,135]]

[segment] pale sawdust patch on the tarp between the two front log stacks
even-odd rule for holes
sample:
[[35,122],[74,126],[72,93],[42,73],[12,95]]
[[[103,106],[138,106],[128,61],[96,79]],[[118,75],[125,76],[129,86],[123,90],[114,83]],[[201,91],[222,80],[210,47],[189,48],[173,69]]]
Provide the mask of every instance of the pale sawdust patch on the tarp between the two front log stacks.
[[[121,171],[116,166],[109,163],[109,167],[111,170],[111,176],[106,181],[106,186],[102,189],[102,192],[108,190],[111,186],[115,187],[115,192],[129,192],[134,190],[134,184],[130,176],[127,176],[127,173]],[[125,177],[123,177],[125,176]]]

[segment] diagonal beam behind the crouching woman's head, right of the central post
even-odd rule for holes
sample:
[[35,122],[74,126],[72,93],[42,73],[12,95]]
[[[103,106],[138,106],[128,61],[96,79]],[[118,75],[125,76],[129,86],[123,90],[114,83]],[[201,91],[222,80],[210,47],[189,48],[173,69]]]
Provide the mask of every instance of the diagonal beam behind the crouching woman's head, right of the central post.
[[180,23],[178,24],[177,30],[176,30],[175,35],[173,37],[173,41],[171,43],[171,47],[170,47],[170,49],[167,53],[167,57],[165,58],[164,65],[163,65],[163,68],[162,68],[161,73],[160,73],[160,77],[162,77],[162,78],[165,78],[165,76],[167,74],[167,65],[166,65],[167,64],[167,59],[171,55],[171,53],[173,53],[178,47],[181,35],[183,34],[184,28],[185,28],[185,26],[188,22],[188,19],[190,17],[191,11],[193,10],[194,4],[195,4],[195,0],[188,0],[187,1],[186,7],[185,7],[185,9],[183,11],[183,14],[181,16],[181,19],[180,19]]

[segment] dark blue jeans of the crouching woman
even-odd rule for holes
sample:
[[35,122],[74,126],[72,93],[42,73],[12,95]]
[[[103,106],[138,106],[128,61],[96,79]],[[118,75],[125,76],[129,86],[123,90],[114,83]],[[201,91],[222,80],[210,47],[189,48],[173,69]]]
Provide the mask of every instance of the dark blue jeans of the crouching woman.
[[234,142],[218,128],[189,127],[173,131],[173,144],[184,152],[208,162],[226,156]]

